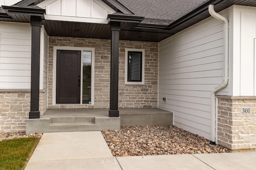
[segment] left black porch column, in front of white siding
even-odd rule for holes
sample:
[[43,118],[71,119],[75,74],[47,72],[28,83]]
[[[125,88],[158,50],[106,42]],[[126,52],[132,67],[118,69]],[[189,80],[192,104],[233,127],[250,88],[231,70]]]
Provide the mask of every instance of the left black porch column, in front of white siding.
[[39,80],[40,80],[40,29],[41,17],[31,16],[31,94],[29,119],[39,119]]

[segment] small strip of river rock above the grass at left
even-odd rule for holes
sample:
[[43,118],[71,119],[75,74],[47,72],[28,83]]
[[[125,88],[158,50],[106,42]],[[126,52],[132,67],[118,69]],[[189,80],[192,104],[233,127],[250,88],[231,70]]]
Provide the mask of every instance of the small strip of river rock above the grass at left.
[[27,138],[27,137],[42,137],[42,133],[31,133],[28,135],[26,135],[25,132],[0,133],[0,141],[17,139],[17,138]]

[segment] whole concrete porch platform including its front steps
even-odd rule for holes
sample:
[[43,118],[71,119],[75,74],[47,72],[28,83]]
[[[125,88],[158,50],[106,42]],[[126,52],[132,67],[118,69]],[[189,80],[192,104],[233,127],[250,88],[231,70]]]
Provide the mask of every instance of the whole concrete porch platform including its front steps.
[[157,108],[119,109],[119,117],[109,117],[108,109],[48,109],[40,119],[27,119],[26,134],[119,130],[122,125],[172,125],[172,120],[172,112]]

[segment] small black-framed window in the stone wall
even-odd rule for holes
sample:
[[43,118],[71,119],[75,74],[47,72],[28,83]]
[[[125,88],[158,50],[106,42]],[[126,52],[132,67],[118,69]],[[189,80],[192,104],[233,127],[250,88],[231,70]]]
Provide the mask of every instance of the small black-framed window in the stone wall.
[[142,52],[128,51],[128,82],[142,82]]

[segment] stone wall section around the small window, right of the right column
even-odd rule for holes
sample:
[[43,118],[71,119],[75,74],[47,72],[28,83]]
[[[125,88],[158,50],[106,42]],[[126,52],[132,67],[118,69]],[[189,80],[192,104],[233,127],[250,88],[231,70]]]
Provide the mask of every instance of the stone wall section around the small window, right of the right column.
[[[120,41],[119,107],[156,108],[158,100],[158,43]],[[125,49],[145,50],[144,85],[125,84]]]

